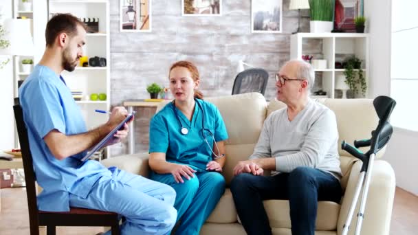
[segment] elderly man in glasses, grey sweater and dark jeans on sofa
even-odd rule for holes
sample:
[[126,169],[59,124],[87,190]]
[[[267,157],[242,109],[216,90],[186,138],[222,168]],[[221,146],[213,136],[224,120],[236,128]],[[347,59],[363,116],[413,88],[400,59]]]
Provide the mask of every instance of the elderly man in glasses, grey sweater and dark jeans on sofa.
[[276,98],[287,107],[267,117],[254,153],[234,168],[231,191],[248,234],[272,234],[263,200],[289,200],[293,235],[314,235],[318,201],[340,201],[336,116],[309,98],[314,76],[308,63],[285,63]]

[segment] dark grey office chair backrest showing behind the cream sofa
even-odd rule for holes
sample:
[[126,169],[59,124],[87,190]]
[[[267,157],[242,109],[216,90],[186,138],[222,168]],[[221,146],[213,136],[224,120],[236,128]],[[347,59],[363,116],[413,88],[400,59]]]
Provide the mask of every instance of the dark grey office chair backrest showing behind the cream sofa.
[[232,95],[259,92],[264,96],[269,74],[265,69],[252,68],[237,74],[232,87]]

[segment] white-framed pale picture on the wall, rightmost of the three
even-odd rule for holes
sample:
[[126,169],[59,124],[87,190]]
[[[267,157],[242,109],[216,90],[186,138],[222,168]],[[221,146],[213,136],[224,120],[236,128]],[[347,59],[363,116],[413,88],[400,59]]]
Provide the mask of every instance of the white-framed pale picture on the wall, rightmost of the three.
[[282,32],[282,0],[251,1],[251,32]]

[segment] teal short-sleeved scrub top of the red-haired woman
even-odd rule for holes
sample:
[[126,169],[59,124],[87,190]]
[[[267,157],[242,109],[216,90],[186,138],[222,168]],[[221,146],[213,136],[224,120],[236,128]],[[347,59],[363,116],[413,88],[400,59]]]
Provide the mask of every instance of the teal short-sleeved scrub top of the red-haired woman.
[[[212,161],[211,149],[214,141],[228,139],[228,133],[217,107],[204,100],[195,100],[200,106],[198,103],[195,104],[191,122],[175,107],[173,102],[154,115],[149,131],[149,152],[166,153],[166,161],[187,164],[194,170],[203,172],[206,171],[206,164]],[[181,124],[177,120],[176,113]],[[213,133],[214,138],[208,131],[202,131],[203,115],[203,125]],[[181,125],[188,129],[187,135],[181,134]],[[206,144],[203,135],[210,146]]]

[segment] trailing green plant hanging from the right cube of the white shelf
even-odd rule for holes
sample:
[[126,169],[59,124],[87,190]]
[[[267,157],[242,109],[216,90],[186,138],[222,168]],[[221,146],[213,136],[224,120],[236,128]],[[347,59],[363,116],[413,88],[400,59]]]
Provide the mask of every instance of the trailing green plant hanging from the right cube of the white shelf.
[[342,67],[344,68],[345,82],[349,85],[350,90],[353,91],[353,95],[357,95],[360,89],[362,96],[366,96],[367,83],[363,74],[362,60],[351,56],[344,60]]

